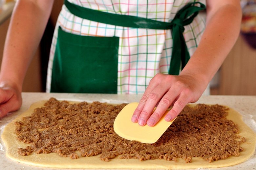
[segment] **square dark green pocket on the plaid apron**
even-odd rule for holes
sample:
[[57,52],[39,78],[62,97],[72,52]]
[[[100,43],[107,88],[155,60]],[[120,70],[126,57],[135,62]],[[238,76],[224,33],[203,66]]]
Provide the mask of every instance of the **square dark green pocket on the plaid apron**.
[[51,92],[117,93],[119,37],[81,36],[58,29]]

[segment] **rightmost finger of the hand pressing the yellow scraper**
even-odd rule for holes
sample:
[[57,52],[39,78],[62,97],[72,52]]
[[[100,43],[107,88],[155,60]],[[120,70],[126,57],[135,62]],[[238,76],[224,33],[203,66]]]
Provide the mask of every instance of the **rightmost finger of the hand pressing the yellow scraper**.
[[185,105],[188,104],[189,102],[190,102],[190,97],[184,93],[181,93],[180,97],[173,104],[172,109],[167,113],[164,120],[169,122],[175,119],[181,113]]

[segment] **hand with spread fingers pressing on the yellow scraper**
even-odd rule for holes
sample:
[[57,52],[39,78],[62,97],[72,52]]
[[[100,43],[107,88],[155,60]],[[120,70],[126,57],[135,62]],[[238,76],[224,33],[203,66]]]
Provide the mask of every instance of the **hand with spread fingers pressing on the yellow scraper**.
[[[200,98],[207,84],[200,76],[157,74],[140,99],[132,122],[138,122],[141,126],[154,126],[171,105],[173,108],[164,119],[172,121],[186,104],[194,103]],[[155,106],[157,108],[152,114]]]

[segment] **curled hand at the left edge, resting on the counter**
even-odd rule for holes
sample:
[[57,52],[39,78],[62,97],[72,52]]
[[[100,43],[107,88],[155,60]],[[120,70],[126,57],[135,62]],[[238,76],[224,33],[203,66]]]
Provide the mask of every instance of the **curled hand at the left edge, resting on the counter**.
[[0,118],[18,110],[21,104],[21,91],[18,88],[5,83],[0,85]]

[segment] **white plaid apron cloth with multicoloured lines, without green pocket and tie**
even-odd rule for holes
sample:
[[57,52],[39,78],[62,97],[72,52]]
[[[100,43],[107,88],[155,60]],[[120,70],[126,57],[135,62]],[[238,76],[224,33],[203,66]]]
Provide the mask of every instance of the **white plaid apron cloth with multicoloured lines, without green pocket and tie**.
[[[194,0],[69,0],[76,5],[104,12],[133,15],[153,20],[171,22],[184,5]],[[202,2],[202,0],[200,1]],[[205,4],[203,1],[202,3]],[[170,30],[127,28],[98,23],[79,18],[63,5],[55,27],[47,75],[47,92],[50,92],[53,57],[58,27],[81,36],[117,36],[118,73],[117,93],[143,93],[149,81],[157,74],[168,74],[172,35]],[[190,56],[196,50],[205,28],[204,17],[199,14],[184,27],[183,33]]]

